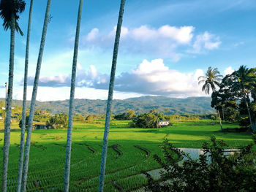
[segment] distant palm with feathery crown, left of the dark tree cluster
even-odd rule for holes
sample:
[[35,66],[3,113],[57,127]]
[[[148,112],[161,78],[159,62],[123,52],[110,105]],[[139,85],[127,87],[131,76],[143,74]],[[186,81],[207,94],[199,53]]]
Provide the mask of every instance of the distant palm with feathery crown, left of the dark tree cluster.
[[[217,68],[211,68],[211,66],[209,66],[206,71],[206,76],[198,77],[198,85],[203,84],[202,91],[206,92],[206,94],[209,94],[210,91],[214,92],[217,90],[217,87],[219,87],[219,83],[221,82],[222,78],[223,76],[219,74]],[[219,125],[222,130],[222,120],[219,115],[218,107],[217,112],[219,116]]]

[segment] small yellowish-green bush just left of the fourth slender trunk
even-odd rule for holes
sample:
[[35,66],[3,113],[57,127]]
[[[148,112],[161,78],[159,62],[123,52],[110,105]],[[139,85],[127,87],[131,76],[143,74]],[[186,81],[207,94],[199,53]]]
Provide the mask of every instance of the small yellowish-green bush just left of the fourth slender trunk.
[[46,121],[46,126],[51,128],[67,128],[68,117],[64,113],[56,114]]

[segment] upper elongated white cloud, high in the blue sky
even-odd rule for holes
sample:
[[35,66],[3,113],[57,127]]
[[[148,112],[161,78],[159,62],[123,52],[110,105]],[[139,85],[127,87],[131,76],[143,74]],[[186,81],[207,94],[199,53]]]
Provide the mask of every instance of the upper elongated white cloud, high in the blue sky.
[[[195,36],[193,26],[160,26],[151,28],[121,28],[120,51],[135,54],[150,54],[161,58],[171,58],[178,61],[182,53],[202,53],[204,50],[214,50],[221,42],[219,37],[207,31]],[[93,28],[82,38],[82,47],[99,47],[102,50],[113,49],[116,26],[109,33],[101,33]]]

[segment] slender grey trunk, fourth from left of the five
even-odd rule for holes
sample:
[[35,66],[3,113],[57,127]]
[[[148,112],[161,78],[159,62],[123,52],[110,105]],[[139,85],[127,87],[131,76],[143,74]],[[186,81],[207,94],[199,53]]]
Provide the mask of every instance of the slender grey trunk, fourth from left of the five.
[[74,111],[74,97],[75,97],[75,74],[77,69],[78,61],[78,44],[79,44],[79,33],[80,33],[80,23],[82,16],[83,0],[80,0],[78,8],[78,22],[75,33],[75,47],[74,56],[72,64],[72,77],[71,77],[71,88],[70,88],[70,98],[69,98],[69,121],[67,126],[67,147],[66,147],[66,161],[65,161],[65,175],[64,175],[64,191],[69,191],[69,172],[70,172],[70,158],[71,158],[71,146],[72,146],[72,120]]

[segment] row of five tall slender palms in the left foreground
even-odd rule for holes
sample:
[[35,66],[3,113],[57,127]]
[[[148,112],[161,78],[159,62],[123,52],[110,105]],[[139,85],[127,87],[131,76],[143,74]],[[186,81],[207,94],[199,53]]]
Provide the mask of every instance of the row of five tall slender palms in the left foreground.
[[[45,19],[42,28],[42,37],[39,46],[39,55],[37,58],[37,69],[34,77],[34,86],[31,98],[31,106],[29,113],[29,123],[27,128],[26,137],[26,149],[24,153],[24,141],[25,141],[25,128],[26,128],[26,88],[27,88],[27,73],[29,64],[29,39],[31,31],[31,15],[33,0],[30,2],[29,9],[29,24],[26,40],[26,58],[25,58],[25,70],[24,70],[24,86],[23,86],[23,112],[22,112],[22,126],[20,134],[20,159],[18,166],[18,180],[17,180],[17,191],[26,191],[26,180],[29,169],[29,151],[31,143],[31,128],[33,126],[34,119],[34,108],[35,101],[37,98],[37,88],[39,82],[39,73],[42,64],[42,55],[45,47],[45,38],[48,28],[48,23],[50,23],[50,3],[51,0],[47,1]],[[125,0],[121,0],[118,23],[116,28],[116,39],[113,50],[113,61],[110,74],[110,86],[108,94],[108,104],[107,112],[105,118],[105,133],[103,139],[102,147],[102,161],[100,164],[100,174],[99,174],[99,191],[103,191],[104,187],[104,177],[105,177],[105,164],[108,149],[108,132],[110,125],[111,116],[111,104],[113,99],[113,87],[116,73],[116,61],[118,55],[118,45],[121,34],[121,24],[124,14],[124,4]],[[1,0],[0,1],[0,16],[4,20],[3,26],[5,30],[10,29],[10,67],[9,67],[9,80],[8,80],[8,94],[7,94],[7,110],[6,119],[4,123],[4,155],[3,155],[3,174],[2,174],[2,191],[7,191],[7,168],[8,168],[8,158],[9,158],[9,148],[10,148],[10,123],[11,123],[11,110],[12,110],[12,85],[13,85],[13,72],[14,72],[14,56],[15,56],[15,31],[18,31],[21,35],[21,31],[18,25],[19,14],[24,11],[26,6],[23,0]],[[80,0],[78,8],[78,21],[75,34],[75,46],[74,46],[74,56],[72,63],[72,79],[71,79],[71,89],[70,89],[70,99],[69,99],[69,118],[68,118],[68,130],[67,130],[67,150],[66,150],[66,162],[65,162],[65,174],[64,174],[64,191],[69,191],[69,168],[70,168],[70,157],[71,157],[71,144],[72,144],[72,117],[74,109],[74,96],[75,96],[75,74],[78,58],[78,44],[79,44],[79,34],[80,34],[80,20],[82,15],[83,0]]]

